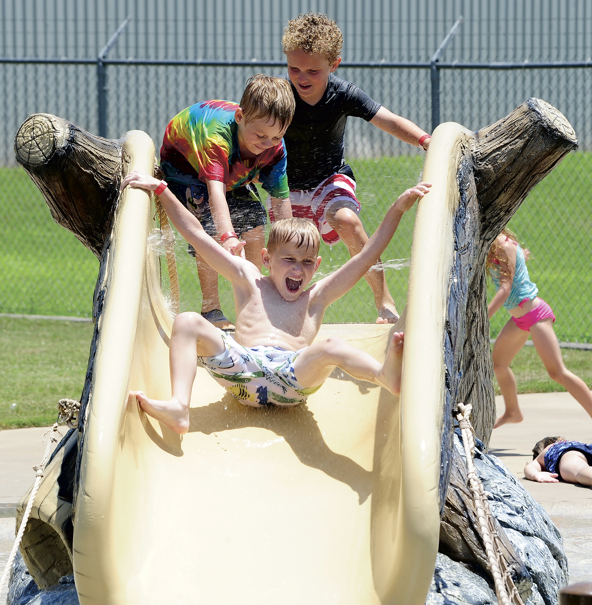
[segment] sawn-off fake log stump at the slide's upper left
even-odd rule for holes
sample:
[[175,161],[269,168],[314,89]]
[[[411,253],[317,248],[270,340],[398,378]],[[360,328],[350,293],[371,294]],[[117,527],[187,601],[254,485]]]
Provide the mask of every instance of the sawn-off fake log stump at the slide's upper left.
[[119,142],[67,120],[33,114],[15,137],[16,159],[38,186],[54,220],[97,258],[111,231],[121,182]]

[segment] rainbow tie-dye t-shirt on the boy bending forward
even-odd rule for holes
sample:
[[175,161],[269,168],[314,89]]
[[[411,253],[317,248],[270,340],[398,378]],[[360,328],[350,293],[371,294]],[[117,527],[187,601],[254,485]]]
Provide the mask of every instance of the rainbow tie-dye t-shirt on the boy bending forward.
[[[167,164],[166,168],[173,168],[165,169],[166,177],[174,182],[176,173],[197,175],[202,183],[221,181],[230,191],[258,175],[261,186],[272,197],[288,197],[283,140],[252,159],[242,160],[234,121],[237,109],[238,103],[231,101],[202,101],[175,116],[166,126],[160,149],[163,168]],[[181,175],[179,178],[183,180]]]

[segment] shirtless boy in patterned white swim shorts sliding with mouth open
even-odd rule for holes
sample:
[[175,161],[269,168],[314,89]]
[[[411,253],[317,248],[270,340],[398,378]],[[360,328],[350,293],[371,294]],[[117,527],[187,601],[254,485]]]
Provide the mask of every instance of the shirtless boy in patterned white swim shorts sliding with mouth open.
[[263,265],[269,269],[267,277],[206,234],[164,181],[131,172],[121,189],[127,185],[146,191],[165,187],[160,201],[169,219],[212,269],[231,281],[237,314],[234,339],[199,313],[177,315],[169,353],[171,400],[154,401],[142,391],[130,393],[146,413],[179,434],[189,430],[198,358],[215,381],[243,404],[254,407],[300,404],[321,387],[335,367],[399,393],[403,333],[393,335],[384,365],[339,338],[311,343],[327,306],[354,287],[377,261],[403,214],[429,192],[429,183],[403,192],[361,252],[308,289],[321,263],[320,235],[311,221],[284,218],[272,226],[268,247],[261,250]]

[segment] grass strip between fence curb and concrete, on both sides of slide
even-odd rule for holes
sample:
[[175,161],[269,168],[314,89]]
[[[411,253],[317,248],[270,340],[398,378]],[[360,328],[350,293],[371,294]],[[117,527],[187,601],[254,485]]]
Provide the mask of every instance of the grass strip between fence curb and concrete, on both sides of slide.
[[[50,425],[59,399],[79,399],[92,336],[90,322],[0,317],[0,429]],[[592,352],[562,353],[565,365],[592,387]],[[512,368],[519,393],[564,390],[548,377],[534,347],[524,347]]]

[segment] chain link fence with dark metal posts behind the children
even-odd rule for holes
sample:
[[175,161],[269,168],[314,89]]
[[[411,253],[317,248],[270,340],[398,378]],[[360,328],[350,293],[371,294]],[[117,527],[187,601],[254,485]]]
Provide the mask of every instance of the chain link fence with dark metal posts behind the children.
[[[418,0],[235,2],[171,0],[0,0],[0,313],[90,316],[98,263],[73,235],[53,222],[38,189],[16,165],[12,150],[19,125],[31,113],[53,113],[91,132],[118,138],[139,128],[158,150],[169,119],[198,100],[240,99],[255,73],[282,73],[281,31],[288,18],[318,10],[344,33],[344,64],[337,75],[426,131],[432,125],[429,59],[459,15],[464,22],[439,69],[441,122],[478,130],[528,97],[556,106],[576,130],[580,148],[539,184],[510,226],[533,253],[528,269],[556,312],[562,341],[592,342],[588,314],[592,174],[592,71],[587,67],[500,69],[499,62],[586,60],[592,54],[592,0],[499,2]],[[104,62],[105,123],[100,122],[97,61],[111,34],[130,15]],[[79,64],[47,63],[70,57]],[[136,57],[151,64],[128,64]],[[245,59],[250,60],[245,65]],[[11,62],[15,59],[28,62]],[[200,59],[242,65],[181,65]],[[446,59],[447,63],[444,63]],[[406,66],[380,67],[407,62]],[[456,66],[454,60],[458,60]],[[206,62],[207,62],[206,61]],[[257,61],[260,61],[258,64]],[[159,62],[169,62],[157,65]],[[354,67],[365,62],[366,67]],[[414,67],[413,62],[423,62]],[[459,67],[462,62],[478,68]],[[372,64],[372,67],[369,67]],[[106,94],[105,94],[106,93]],[[363,120],[350,119],[346,159],[357,177],[361,219],[372,232],[399,192],[421,176],[423,154]],[[406,300],[413,215],[404,218],[383,255],[390,292],[399,310]],[[194,260],[177,238],[181,309],[199,309]],[[343,243],[321,249],[321,272],[349,258]],[[220,278],[223,310],[234,317],[228,284]],[[369,286],[362,282],[327,310],[326,321],[374,321]],[[507,315],[498,313],[492,335]]]

